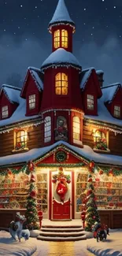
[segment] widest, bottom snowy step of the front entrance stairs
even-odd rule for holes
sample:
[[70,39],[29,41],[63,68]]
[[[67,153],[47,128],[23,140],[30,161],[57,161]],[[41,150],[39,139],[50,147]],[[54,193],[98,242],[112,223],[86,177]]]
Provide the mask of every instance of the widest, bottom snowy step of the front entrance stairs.
[[56,242],[63,242],[63,241],[80,241],[80,240],[86,240],[86,235],[83,236],[68,236],[68,237],[52,237],[52,236],[38,236],[37,239],[43,240],[43,241],[56,241]]

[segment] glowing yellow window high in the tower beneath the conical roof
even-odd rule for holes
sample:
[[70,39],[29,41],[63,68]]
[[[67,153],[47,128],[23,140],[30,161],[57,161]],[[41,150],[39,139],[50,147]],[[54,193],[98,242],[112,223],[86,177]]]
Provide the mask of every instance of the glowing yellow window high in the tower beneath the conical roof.
[[54,48],[68,48],[68,31],[65,29],[57,29],[54,32]]

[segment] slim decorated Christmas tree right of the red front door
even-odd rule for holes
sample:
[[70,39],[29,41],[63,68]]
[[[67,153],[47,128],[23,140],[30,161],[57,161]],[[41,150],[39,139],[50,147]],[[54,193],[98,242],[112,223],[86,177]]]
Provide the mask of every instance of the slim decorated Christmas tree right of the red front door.
[[94,195],[94,185],[92,174],[94,173],[94,162],[89,165],[89,174],[87,179],[87,198],[86,198],[86,216],[85,216],[85,230],[92,231],[92,225],[97,221],[100,222],[98,208],[96,205],[96,198]]

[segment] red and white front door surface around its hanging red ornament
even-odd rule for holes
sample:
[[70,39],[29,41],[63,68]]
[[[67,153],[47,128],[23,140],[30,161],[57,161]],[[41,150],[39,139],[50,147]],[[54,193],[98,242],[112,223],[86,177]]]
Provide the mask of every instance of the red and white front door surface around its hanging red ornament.
[[[57,172],[52,172],[52,176],[57,174]],[[65,194],[64,202],[61,202],[60,196],[57,194],[57,186],[56,184],[51,183],[51,219],[53,220],[69,220],[71,218],[71,202],[72,202],[72,173],[65,172],[71,176],[71,183],[67,184],[68,191]]]

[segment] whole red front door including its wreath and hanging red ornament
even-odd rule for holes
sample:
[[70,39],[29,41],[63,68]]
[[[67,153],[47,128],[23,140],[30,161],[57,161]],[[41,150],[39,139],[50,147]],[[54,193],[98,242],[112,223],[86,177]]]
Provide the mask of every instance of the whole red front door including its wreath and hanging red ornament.
[[69,220],[72,205],[72,176],[71,172],[52,172],[52,213],[53,220]]

